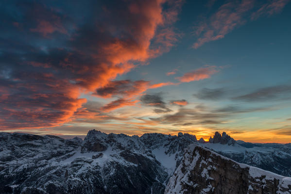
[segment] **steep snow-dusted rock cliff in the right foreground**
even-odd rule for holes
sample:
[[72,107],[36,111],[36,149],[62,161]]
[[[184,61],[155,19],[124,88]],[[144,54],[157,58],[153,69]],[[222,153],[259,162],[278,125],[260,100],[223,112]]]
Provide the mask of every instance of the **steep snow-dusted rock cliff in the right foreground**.
[[291,194],[291,178],[191,145],[165,194]]

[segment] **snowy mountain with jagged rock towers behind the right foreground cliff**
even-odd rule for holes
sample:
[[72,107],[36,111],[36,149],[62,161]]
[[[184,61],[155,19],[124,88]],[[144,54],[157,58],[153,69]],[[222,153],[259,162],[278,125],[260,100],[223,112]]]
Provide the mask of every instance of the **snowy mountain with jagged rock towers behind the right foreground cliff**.
[[291,177],[291,144],[252,144],[216,132],[209,143],[200,145],[236,162]]

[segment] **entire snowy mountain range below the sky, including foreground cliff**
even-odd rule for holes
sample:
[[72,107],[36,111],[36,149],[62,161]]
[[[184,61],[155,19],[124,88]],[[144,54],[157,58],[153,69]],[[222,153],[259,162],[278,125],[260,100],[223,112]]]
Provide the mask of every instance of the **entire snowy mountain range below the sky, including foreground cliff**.
[[[243,163],[243,164],[242,164]],[[291,145],[216,132],[84,140],[0,133],[0,194],[290,194]]]

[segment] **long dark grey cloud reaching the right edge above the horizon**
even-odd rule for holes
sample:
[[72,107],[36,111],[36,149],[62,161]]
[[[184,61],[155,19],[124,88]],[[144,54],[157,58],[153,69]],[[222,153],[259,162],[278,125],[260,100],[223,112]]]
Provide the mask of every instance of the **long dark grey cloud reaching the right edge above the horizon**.
[[290,99],[291,96],[291,86],[290,85],[277,85],[272,87],[265,87],[257,89],[256,91],[238,96],[233,97],[233,100],[242,100],[242,101],[266,101],[266,100],[273,100],[273,99]]

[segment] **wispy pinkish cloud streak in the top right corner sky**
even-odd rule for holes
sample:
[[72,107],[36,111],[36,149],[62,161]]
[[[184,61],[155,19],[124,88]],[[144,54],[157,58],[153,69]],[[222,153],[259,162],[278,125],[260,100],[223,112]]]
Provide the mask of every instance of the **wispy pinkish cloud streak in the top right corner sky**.
[[217,12],[194,27],[198,38],[193,44],[197,49],[207,42],[222,39],[226,34],[240,27],[249,20],[260,16],[271,16],[282,11],[289,0],[270,0],[260,4],[256,0],[230,1],[223,4]]

